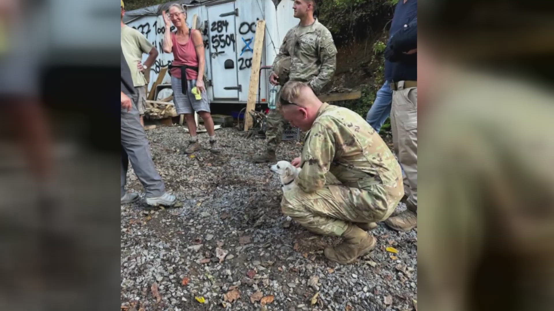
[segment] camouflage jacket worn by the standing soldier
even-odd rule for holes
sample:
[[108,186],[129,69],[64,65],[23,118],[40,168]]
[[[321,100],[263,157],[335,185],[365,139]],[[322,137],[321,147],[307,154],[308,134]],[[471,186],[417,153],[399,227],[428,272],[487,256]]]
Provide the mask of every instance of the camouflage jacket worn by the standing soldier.
[[337,68],[337,48],[329,29],[317,19],[309,26],[291,28],[283,39],[279,54],[273,61],[291,56],[290,80],[308,82],[319,93],[331,80]]

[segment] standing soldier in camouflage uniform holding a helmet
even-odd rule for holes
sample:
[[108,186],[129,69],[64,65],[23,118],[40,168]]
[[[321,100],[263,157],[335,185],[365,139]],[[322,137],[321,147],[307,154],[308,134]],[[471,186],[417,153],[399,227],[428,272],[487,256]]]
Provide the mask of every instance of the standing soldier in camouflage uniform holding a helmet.
[[[331,80],[336,69],[337,49],[329,29],[314,18],[314,6],[312,0],[295,2],[294,17],[300,18],[300,23],[285,35],[273,62],[271,84],[282,86],[289,79],[304,81],[319,94]],[[267,125],[266,150],[254,158],[257,163],[276,161],[275,150],[283,137],[286,121],[278,111],[270,110]]]

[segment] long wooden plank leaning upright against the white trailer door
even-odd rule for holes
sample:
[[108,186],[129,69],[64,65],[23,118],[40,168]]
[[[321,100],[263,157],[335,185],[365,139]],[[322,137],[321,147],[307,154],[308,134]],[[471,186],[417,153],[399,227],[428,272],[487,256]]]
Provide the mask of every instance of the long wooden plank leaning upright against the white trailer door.
[[245,122],[244,131],[252,127],[252,116],[249,111],[254,110],[256,106],[256,96],[258,95],[258,83],[260,81],[261,51],[264,48],[265,20],[258,20],[256,23],[256,36],[254,39],[254,51],[252,55],[252,70],[250,71],[250,84],[248,85],[248,100],[246,111],[244,112]]

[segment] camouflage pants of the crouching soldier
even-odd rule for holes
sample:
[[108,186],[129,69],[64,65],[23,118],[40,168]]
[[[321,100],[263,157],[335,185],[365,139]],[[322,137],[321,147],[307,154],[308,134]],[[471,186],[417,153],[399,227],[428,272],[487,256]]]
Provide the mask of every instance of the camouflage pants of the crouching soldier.
[[283,195],[281,211],[312,232],[341,236],[350,222],[387,219],[403,194],[402,183],[388,191],[382,185],[326,185],[313,193],[295,188]]

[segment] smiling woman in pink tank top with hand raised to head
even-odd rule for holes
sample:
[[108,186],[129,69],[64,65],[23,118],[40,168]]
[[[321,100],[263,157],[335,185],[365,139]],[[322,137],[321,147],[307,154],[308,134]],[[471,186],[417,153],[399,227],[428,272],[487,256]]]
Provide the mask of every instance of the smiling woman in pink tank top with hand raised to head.
[[[184,154],[190,154],[201,149],[196,136],[196,122],[193,112],[196,111],[204,120],[204,126],[209,134],[210,151],[218,153],[214,147],[216,136],[212,115],[210,113],[208,94],[204,85],[204,69],[206,56],[204,55],[204,41],[197,29],[187,26],[187,12],[181,4],[172,4],[168,13],[162,12],[166,24],[163,37],[163,51],[173,53],[173,62],[170,65],[171,87],[173,89],[173,103],[179,115],[184,114],[187,120],[188,132],[191,135],[188,146],[183,148]],[[171,23],[177,28],[171,32]],[[202,99],[197,100],[192,94],[193,87],[201,92]]]

